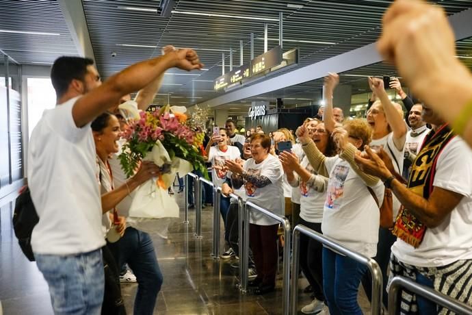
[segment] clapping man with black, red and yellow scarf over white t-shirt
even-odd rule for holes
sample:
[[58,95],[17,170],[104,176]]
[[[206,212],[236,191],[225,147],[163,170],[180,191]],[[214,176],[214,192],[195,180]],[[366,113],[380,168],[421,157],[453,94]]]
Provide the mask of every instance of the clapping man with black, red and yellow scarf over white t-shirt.
[[[367,149],[356,157],[367,173],[391,187],[403,207],[393,234],[390,279],[409,277],[453,299],[472,305],[472,151],[443,118],[423,105],[423,119],[434,126],[412,166],[408,187],[384,161]],[[402,314],[443,314],[432,301],[402,292]]]

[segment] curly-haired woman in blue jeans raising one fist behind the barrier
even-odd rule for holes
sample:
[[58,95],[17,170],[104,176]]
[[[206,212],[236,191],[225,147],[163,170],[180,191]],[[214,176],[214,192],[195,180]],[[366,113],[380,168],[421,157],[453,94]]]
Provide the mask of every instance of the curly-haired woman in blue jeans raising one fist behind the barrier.
[[[306,127],[298,128],[297,136],[313,169],[328,177],[323,234],[352,251],[374,257],[380,212],[367,186],[378,200],[382,200],[384,187],[377,177],[366,175],[354,162],[354,155],[371,140],[369,125],[353,119],[336,128],[332,138],[340,154],[334,157],[319,151]],[[366,270],[367,266],[323,248],[323,287],[330,314],[362,314],[357,294]]]

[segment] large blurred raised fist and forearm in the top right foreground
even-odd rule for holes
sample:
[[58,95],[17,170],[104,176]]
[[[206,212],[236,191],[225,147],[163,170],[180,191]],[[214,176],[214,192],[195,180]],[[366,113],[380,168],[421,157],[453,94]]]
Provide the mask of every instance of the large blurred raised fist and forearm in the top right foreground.
[[442,8],[397,0],[384,14],[377,48],[412,92],[472,146],[472,75],[456,58],[455,40]]

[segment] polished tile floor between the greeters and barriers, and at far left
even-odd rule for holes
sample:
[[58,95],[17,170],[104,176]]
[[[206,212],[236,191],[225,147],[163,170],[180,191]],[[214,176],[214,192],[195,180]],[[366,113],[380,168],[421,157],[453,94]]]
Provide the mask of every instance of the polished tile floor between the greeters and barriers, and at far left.
[[[183,209],[183,194],[175,194]],[[52,314],[47,284],[34,262],[28,262],[18,247],[11,227],[12,207],[8,202],[0,208],[0,301],[3,314]],[[281,260],[276,290],[263,296],[240,294],[235,260],[213,260],[213,208],[202,212],[202,238],[194,236],[194,210],[189,225],[181,218],[140,223],[153,238],[164,283],[159,292],[155,314],[282,314]],[[166,227],[168,225],[168,233]],[[167,236],[163,238],[162,236]],[[223,251],[221,242],[221,251]],[[311,301],[299,281],[298,309]],[[136,283],[122,284],[128,314],[133,314]],[[369,314],[369,303],[363,293],[360,304]],[[300,313],[300,312],[299,312]],[[301,314],[301,313],[300,313]]]

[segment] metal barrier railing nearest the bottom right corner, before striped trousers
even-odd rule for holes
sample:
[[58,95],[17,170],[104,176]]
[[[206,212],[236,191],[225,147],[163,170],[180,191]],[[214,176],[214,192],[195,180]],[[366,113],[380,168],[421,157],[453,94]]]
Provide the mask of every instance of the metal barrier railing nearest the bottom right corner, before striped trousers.
[[425,299],[428,299],[438,305],[446,307],[448,310],[455,312],[456,314],[472,314],[472,307],[452,299],[447,295],[438,292],[427,286],[422,286],[415,281],[407,279],[405,277],[396,276],[393,277],[390,283],[389,289],[389,315],[399,314],[399,295],[402,292],[402,288],[411,291],[415,294],[421,295]]

